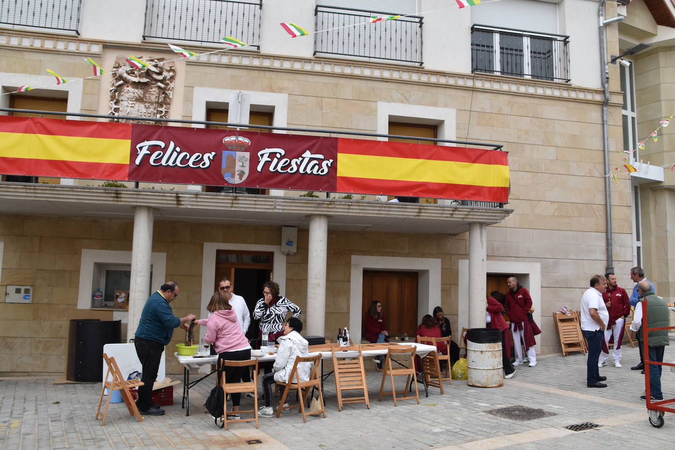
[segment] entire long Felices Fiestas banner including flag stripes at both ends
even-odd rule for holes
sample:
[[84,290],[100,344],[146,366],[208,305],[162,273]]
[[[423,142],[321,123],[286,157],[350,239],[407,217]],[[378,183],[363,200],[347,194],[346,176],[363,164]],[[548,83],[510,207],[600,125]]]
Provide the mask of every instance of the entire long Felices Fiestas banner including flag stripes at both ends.
[[508,202],[508,154],[234,130],[0,117],[0,173]]

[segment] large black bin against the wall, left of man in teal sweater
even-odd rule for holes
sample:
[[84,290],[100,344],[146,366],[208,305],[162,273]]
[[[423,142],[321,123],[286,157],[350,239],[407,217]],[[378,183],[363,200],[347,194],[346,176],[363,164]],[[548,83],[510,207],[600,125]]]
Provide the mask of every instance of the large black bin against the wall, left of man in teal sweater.
[[103,345],[119,343],[121,320],[73,319],[68,335],[68,381],[103,379]]

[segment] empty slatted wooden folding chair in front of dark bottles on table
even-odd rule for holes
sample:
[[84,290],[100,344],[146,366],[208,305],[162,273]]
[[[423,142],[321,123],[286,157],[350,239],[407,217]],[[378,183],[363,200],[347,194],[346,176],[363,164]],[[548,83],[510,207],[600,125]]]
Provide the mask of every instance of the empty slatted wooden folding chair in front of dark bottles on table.
[[[346,356],[343,351],[358,351],[358,356]],[[363,368],[363,354],[360,345],[350,347],[333,347],[333,372],[335,375],[335,392],[338,394],[338,411],[342,411],[344,403],[366,403],[371,409],[366,385],[366,371]],[[363,391],[360,397],[342,398],[342,391]]]

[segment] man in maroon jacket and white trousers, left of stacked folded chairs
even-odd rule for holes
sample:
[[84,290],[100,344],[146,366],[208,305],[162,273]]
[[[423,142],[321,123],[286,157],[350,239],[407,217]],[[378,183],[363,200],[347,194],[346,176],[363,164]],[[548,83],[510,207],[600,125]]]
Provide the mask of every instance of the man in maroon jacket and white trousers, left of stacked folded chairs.
[[[519,366],[529,360],[530,367],[537,365],[537,354],[535,353],[535,335],[541,333],[535,322],[530,322],[527,313],[532,308],[532,298],[527,289],[518,283],[516,277],[509,277],[506,280],[509,291],[506,293],[506,313],[511,319],[511,331],[513,333],[514,347],[516,350],[516,362],[514,366]],[[522,358],[522,345],[527,352],[527,358]]]

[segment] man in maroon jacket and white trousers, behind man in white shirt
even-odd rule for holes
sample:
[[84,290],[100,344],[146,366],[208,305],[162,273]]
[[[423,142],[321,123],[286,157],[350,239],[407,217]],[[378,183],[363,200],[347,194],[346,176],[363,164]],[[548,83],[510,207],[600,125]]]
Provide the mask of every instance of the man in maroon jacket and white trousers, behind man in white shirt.
[[626,316],[630,314],[630,297],[616,283],[616,275],[607,273],[607,289],[602,294],[602,300],[610,312],[610,321],[605,328],[605,339],[602,341],[602,351],[597,363],[598,367],[607,365],[607,358],[610,356],[610,342],[614,339],[614,367],[621,367],[621,341],[624,339],[624,330],[626,325]]

